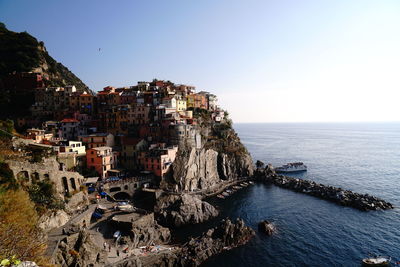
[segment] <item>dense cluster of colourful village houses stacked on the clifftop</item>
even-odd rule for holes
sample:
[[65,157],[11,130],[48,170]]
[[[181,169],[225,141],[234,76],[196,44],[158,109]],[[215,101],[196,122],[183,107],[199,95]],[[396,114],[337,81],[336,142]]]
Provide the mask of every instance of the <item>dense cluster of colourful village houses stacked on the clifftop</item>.
[[26,138],[49,145],[65,170],[96,172],[102,179],[141,172],[162,178],[179,144],[201,147],[199,114],[219,123],[217,97],[195,87],[153,80],[107,86],[93,94],[75,86],[34,90]]

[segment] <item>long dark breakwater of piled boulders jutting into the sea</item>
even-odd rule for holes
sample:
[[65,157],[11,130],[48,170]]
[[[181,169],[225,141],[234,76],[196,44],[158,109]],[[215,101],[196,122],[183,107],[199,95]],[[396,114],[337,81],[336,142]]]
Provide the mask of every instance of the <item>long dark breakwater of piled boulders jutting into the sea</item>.
[[275,173],[257,175],[258,179],[295,192],[315,196],[335,202],[342,206],[356,208],[362,211],[393,209],[393,205],[369,194],[359,194],[340,187],[323,185],[310,180],[292,178]]

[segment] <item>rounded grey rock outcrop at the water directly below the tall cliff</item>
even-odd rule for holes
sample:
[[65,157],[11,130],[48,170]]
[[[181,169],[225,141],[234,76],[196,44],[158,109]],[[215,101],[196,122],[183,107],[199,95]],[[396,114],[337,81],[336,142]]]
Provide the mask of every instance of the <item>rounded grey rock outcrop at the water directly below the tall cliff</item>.
[[204,222],[218,215],[214,206],[188,194],[160,197],[155,212],[160,223],[172,227]]

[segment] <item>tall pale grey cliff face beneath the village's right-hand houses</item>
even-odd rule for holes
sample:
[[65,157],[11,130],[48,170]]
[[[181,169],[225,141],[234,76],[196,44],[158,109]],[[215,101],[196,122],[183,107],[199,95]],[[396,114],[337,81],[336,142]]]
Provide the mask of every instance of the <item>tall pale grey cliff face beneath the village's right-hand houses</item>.
[[[206,124],[202,147],[181,144],[166,186],[176,191],[209,189],[223,180],[253,174],[253,161],[230,125]],[[164,184],[165,186],[165,184]]]

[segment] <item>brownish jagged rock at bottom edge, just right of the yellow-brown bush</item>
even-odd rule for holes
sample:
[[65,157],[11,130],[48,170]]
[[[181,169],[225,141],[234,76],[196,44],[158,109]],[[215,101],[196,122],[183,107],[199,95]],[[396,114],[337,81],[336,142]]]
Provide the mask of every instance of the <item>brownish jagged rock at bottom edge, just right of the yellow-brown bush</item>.
[[55,254],[55,264],[60,266],[104,266],[106,259],[106,253],[86,231],[65,237]]

